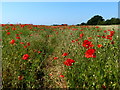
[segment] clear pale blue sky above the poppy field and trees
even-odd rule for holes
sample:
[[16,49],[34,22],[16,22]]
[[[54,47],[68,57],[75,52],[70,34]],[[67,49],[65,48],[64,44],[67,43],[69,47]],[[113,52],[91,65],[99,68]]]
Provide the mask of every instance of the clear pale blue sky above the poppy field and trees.
[[117,2],[3,2],[2,23],[78,24],[94,15],[118,17]]

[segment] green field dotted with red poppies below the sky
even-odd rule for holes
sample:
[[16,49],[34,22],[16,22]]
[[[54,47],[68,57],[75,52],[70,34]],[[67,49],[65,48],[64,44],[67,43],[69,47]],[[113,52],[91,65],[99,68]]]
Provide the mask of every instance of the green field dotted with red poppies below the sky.
[[3,88],[120,88],[116,27],[2,24]]

